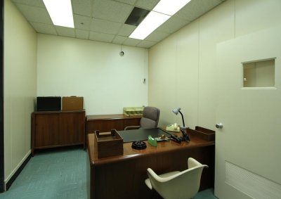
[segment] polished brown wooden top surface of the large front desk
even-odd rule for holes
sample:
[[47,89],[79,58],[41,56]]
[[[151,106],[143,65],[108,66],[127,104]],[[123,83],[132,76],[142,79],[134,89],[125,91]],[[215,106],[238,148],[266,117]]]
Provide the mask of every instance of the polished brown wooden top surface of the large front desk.
[[[181,136],[181,133],[175,133],[178,136]],[[112,162],[120,162],[133,158],[141,158],[143,155],[155,155],[158,153],[169,153],[173,151],[186,150],[188,148],[200,148],[204,146],[212,146],[215,144],[215,141],[206,141],[201,139],[199,136],[195,134],[188,134],[190,137],[190,142],[182,141],[181,143],[176,143],[174,141],[160,141],[157,142],[157,147],[150,146],[148,141],[144,141],[146,143],[147,148],[143,150],[136,150],[131,148],[131,142],[124,143],[123,155],[116,155],[109,158],[98,158],[98,153],[95,148],[95,134],[87,135],[87,146],[89,150],[89,158],[92,166],[109,164]]]

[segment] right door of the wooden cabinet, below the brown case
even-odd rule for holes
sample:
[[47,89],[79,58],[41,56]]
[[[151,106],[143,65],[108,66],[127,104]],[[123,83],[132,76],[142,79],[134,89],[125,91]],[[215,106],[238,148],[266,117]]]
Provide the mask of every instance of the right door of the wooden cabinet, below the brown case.
[[84,144],[85,113],[60,114],[60,144]]

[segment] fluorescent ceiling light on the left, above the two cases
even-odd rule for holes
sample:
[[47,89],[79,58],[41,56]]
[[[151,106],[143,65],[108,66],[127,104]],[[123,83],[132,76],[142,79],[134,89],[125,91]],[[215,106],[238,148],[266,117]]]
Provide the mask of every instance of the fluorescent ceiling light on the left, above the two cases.
[[71,0],[43,0],[53,25],[74,28]]

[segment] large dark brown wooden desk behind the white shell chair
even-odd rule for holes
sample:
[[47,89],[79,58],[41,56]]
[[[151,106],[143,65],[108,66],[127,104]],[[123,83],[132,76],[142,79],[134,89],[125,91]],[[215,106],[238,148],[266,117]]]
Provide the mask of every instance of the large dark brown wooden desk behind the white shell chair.
[[[145,185],[148,178],[146,169],[157,174],[188,169],[188,158],[192,157],[202,164],[204,169],[200,190],[214,187],[214,141],[205,141],[189,134],[189,143],[174,141],[158,142],[157,147],[135,150],[131,143],[124,143],[124,154],[98,159],[95,148],[95,134],[87,135],[87,191],[89,198],[150,198],[152,191]],[[187,187],[188,188],[188,187]],[[155,194],[155,198],[159,195]]]

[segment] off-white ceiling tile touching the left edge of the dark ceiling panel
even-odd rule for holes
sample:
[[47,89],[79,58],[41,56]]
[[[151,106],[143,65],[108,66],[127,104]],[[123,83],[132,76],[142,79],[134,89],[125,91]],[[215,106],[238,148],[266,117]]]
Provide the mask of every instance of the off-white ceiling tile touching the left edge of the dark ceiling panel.
[[133,6],[117,1],[96,0],[93,3],[93,17],[124,23],[133,10]]

